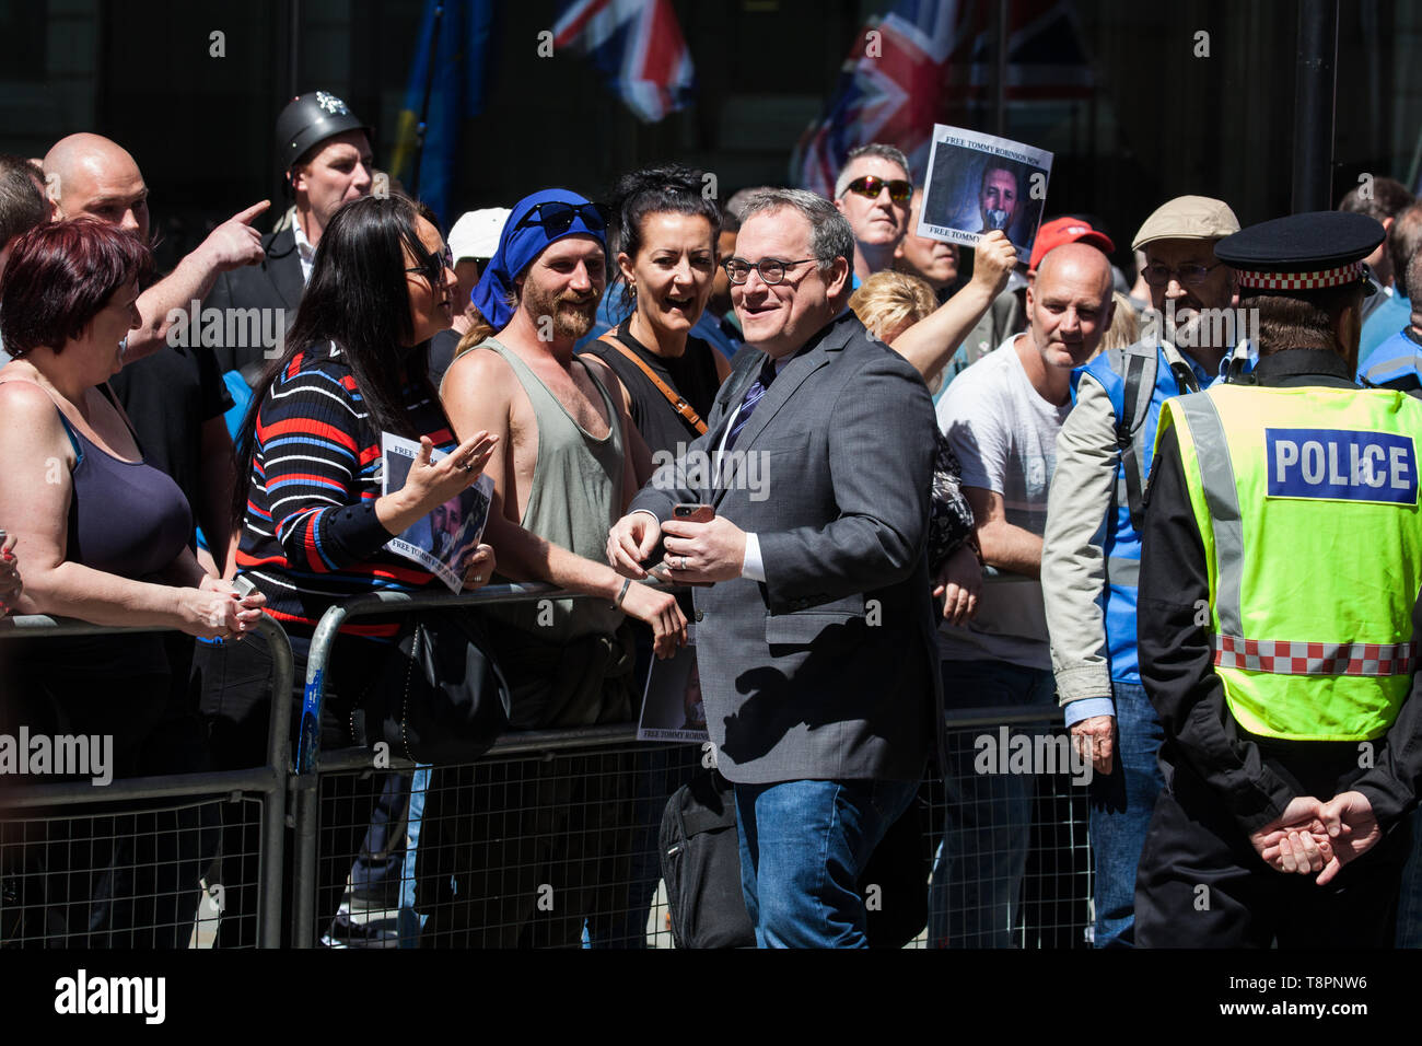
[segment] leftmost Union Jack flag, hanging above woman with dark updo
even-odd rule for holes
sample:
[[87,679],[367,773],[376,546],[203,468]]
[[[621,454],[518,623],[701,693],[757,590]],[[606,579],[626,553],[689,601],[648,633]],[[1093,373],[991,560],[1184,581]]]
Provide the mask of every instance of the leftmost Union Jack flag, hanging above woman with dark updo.
[[671,0],[570,0],[559,9],[553,47],[590,57],[647,124],[680,110],[695,84]]

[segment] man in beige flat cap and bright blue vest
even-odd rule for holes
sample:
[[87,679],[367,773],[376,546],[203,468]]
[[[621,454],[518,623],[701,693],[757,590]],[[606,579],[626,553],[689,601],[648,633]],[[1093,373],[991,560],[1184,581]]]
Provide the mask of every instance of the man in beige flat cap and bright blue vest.
[[1133,944],[1136,864],[1160,791],[1160,723],[1136,667],[1140,495],[1160,404],[1219,380],[1244,332],[1214,243],[1239,231],[1217,199],[1180,196],[1136,233],[1152,309],[1143,337],[1072,374],[1042,542],[1042,593],[1066,726],[1091,747],[1096,946]]

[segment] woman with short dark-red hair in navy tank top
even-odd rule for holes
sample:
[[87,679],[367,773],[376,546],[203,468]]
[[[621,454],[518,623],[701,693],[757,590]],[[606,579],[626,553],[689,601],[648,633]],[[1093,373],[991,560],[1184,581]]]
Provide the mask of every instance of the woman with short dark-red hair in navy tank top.
[[[107,384],[139,324],[134,302],[151,265],[148,248],[131,233],[92,219],[37,226],[10,252],[0,279],[0,337],[14,357],[0,370],[0,525],[24,562],[24,586],[7,591],[6,609],[242,639],[262,616],[262,596],[243,599],[198,565],[188,545],[188,501],[144,461]],[[144,632],[23,648],[9,640],[0,733],[23,724],[31,736],[102,739],[107,766],[94,766],[95,751],[94,773],[82,777],[166,770],[144,763],[169,694],[162,639]],[[50,895],[36,909],[44,912],[36,919],[46,938],[64,934],[64,944],[77,946],[129,942],[119,934],[135,914],[117,901],[155,899],[142,885],[156,871],[152,860],[129,852],[135,838],[154,842],[152,825],[145,831],[139,815],[121,834],[104,820],[51,823],[47,874],[21,879]],[[71,860],[87,867],[70,871]],[[196,875],[188,887],[191,919]],[[64,901],[55,905],[55,897]],[[151,919],[146,925],[154,936],[138,944],[152,945],[161,931]]]

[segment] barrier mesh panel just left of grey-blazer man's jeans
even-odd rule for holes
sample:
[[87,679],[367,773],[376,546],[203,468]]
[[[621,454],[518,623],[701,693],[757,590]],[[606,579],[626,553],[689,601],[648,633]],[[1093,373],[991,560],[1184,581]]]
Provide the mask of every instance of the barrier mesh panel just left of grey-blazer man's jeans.
[[616,744],[414,773],[323,771],[321,944],[670,946],[657,828],[700,756]]

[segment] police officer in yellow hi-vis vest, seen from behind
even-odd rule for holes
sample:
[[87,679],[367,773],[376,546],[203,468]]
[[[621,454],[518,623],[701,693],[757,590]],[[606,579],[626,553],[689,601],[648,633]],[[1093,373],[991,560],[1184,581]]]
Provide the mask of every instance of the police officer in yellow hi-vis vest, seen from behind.
[[1160,413],[1138,622],[1166,791],[1140,945],[1392,944],[1422,770],[1422,403],[1352,383],[1382,236],[1320,212],[1214,248],[1260,360]]

